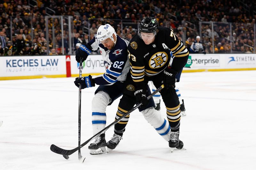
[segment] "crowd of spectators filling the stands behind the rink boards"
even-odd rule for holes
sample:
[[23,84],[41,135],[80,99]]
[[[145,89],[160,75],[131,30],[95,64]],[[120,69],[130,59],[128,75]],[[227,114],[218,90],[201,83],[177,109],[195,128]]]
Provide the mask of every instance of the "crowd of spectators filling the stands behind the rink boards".
[[[250,11],[256,11],[256,2],[248,1],[246,5]],[[62,33],[60,18],[51,18],[48,20],[47,42],[46,8],[55,12],[48,10],[51,15],[73,16],[72,32],[68,30],[66,19],[63,19]],[[0,0],[0,55],[58,55],[62,54],[62,48],[67,54],[71,50],[69,33],[76,48],[80,43],[90,41],[98,27],[106,23],[114,26],[119,36],[131,40],[145,16],[153,16],[160,26],[172,28],[181,41],[186,39],[188,48],[199,35],[199,21],[203,21],[201,41],[207,53],[213,50],[215,53],[230,53],[231,49],[233,52],[255,51],[256,15],[232,0],[37,0],[37,5],[29,5],[28,0]],[[206,23],[208,21],[214,21],[213,32],[211,24]]]

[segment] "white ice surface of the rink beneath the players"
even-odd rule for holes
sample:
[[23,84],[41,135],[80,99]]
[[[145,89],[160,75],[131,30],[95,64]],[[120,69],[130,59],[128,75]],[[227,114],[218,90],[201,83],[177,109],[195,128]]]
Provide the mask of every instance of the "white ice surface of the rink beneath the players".
[[[0,169],[255,169],[256,71],[184,73],[177,83],[187,116],[180,139],[186,151],[174,150],[137,110],[131,113],[115,150],[90,155],[79,163],[50,151],[56,144],[78,144],[78,88],[74,78],[0,81]],[[82,90],[81,143],[92,137],[91,100],[96,87]],[[119,99],[107,108],[114,121]],[[165,115],[164,103],[161,113]],[[113,127],[106,131],[107,141]]]

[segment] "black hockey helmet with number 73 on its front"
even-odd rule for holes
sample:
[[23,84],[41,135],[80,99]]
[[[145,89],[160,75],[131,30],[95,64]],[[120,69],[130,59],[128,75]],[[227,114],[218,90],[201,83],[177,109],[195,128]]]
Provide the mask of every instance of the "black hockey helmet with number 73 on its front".
[[142,19],[139,25],[139,37],[140,33],[154,33],[156,35],[156,30],[158,28],[158,23],[154,17],[145,17]]

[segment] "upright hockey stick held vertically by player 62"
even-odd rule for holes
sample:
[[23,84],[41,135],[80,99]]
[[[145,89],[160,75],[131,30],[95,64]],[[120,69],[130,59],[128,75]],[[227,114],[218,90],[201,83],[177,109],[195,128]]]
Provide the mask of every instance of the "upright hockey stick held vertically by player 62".
[[[83,69],[83,58],[80,58],[80,64],[79,64],[79,78],[82,77],[82,69]],[[78,97],[78,146],[80,146],[81,144],[81,84],[79,85],[79,97]],[[63,157],[65,159],[68,159],[68,155],[63,155]],[[79,161],[84,162],[84,159],[82,154],[81,154],[81,150],[78,149],[78,159]]]

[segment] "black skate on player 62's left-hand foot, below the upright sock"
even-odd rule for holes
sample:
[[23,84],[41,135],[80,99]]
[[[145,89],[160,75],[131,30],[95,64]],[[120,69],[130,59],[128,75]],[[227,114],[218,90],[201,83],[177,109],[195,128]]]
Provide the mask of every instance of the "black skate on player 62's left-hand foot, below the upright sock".
[[[92,142],[88,149],[90,149],[91,155],[99,155],[106,153],[106,140],[105,140],[105,134],[101,134],[98,137],[95,138],[95,141]],[[97,151],[98,150],[98,151]]]

